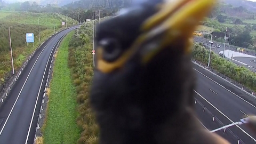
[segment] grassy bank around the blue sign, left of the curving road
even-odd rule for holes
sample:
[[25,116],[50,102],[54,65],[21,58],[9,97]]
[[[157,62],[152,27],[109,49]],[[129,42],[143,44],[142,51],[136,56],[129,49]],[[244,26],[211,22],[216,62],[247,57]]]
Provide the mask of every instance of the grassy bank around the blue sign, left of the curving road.
[[[47,37],[54,34],[53,13],[0,11],[0,86],[3,85],[11,76],[12,66],[9,27],[27,23],[11,27],[14,69],[18,70],[31,52],[33,52],[39,45],[38,18],[42,43]],[[61,26],[61,21],[66,22],[66,17],[61,14],[55,14],[55,31],[66,28]],[[71,26],[71,24],[73,25],[73,19],[67,18],[67,21],[68,27]],[[26,33],[34,33],[34,47],[33,43],[26,43]]]

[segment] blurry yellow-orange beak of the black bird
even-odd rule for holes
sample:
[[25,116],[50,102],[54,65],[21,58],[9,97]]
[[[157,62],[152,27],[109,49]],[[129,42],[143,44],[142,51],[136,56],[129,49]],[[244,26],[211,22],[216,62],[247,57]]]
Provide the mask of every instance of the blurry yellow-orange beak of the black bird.
[[211,12],[216,1],[168,0],[159,5],[161,10],[143,23],[142,35],[133,43],[134,47],[140,47],[142,63],[150,61],[154,55],[173,42],[186,43],[181,48],[189,52],[194,31]]

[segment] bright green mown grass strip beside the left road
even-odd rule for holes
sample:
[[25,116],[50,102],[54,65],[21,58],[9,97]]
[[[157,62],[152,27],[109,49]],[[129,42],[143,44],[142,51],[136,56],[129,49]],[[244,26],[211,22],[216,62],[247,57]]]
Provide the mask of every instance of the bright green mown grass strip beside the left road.
[[68,44],[74,31],[62,41],[53,67],[46,123],[43,126],[44,143],[77,143],[79,128],[76,123],[76,90],[68,67]]

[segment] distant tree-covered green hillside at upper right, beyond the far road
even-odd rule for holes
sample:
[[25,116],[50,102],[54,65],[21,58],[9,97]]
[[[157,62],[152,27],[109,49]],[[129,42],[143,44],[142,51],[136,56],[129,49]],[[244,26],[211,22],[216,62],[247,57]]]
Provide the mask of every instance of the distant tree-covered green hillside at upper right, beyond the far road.
[[231,45],[256,50],[255,16],[256,12],[247,10],[245,7],[220,3],[197,31],[209,33],[204,34],[204,37],[210,39],[213,26],[213,41],[224,42],[227,27],[227,37]]

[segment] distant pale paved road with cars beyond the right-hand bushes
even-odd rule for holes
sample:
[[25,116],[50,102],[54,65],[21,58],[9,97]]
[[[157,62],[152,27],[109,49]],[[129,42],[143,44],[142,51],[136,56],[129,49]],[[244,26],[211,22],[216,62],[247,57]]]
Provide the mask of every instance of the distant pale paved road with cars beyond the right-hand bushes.
[[[207,44],[207,47],[210,47],[210,43],[209,43],[210,39],[206,39],[206,38],[202,38],[202,37],[194,37],[194,41],[195,41],[195,42],[202,43],[202,44],[204,44],[204,45]],[[217,44],[219,44],[220,47],[217,47]],[[217,54],[219,54],[220,51],[223,51],[223,47],[224,47],[224,44],[223,44],[223,43],[219,43],[219,42],[213,41],[213,44],[212,44],[212,51],[215,52],[215,53],[217,53]],[[236,51],[236,47],[235,47],[235,46],[230,45],[230,47],[229,47],[229,45],[228,45],[227,43],[226,43],[226,46],[225,46],[225,47],[226,47],[226,50],[228,50],[228,49],[230,48],[229,50],[231,50],[231,51]],[[256,57],[256,53],[255,53],[255,52],[244,51],[243,53],[244,53],[244,54],[248,54],[248,55],[253,55],[254,57]],[[227,59],[227,58],[226,58],[226,59]],[[253,61],[253,60],[256,60],[256,58],[235,57],[235,58],[233,58],[233,59],[234,59],[234,60],[232,60],[232,62],[236,63],[237,65],[239,65],[239,66],[245,66],[245,67],[247,67],[248,69],[250,69],[250,70],[256,72],[256,63],[254,64],[254,63],[251,62],[251,61]],[[230,60],[230,59],[229,59],[229,60]],[[244,65],[244,64],[242,64],[242,63],[240,63],[240,62],[237,62],[237,61],[235,61],[235,60],[238,60],[238,61],[241,61],[241,62],[243,62],[243,63],[246,63],[246,65]],[[231,60],[230,60],[230,61],[231,61]],[[248,66],[247,66],[247,65],[248,65]]]

